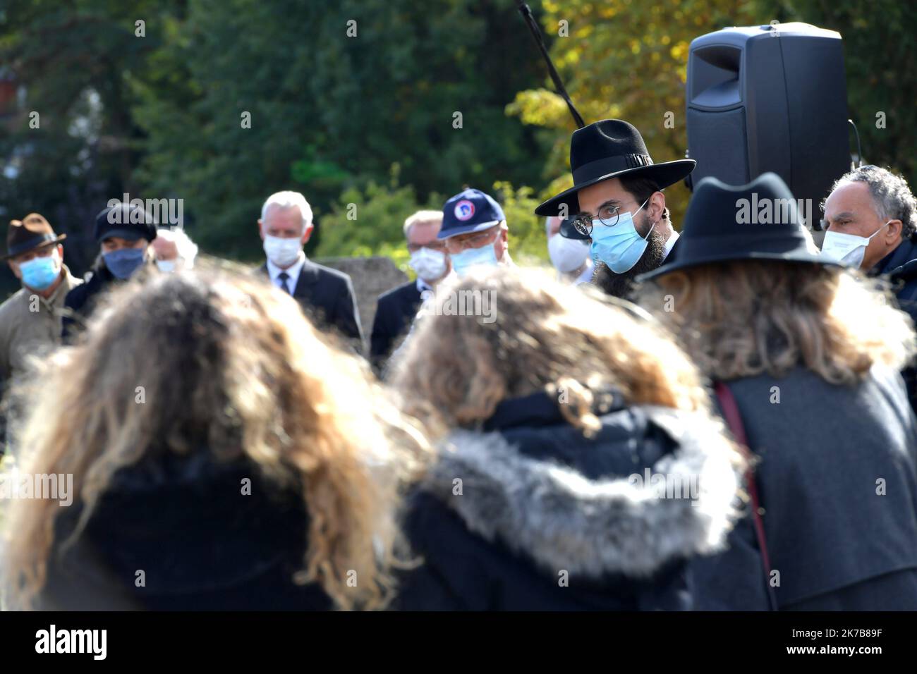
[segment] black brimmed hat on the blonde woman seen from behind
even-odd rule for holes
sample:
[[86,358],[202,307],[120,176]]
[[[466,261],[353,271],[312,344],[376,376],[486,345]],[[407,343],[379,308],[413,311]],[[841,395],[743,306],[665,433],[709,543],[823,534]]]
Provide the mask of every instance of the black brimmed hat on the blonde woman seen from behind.
[[777,173],[762,173],[738,186],[704,178],[688,204],[678,258],[636,280],[730,260],[836,265],[810,247],[814,248],[814,243],[803,229],[796,199]]

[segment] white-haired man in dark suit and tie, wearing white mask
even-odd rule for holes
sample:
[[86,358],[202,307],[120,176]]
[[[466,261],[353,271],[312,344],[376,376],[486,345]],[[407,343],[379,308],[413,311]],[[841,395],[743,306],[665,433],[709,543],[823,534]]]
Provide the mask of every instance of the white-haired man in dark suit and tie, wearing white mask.
[[268,258],[260,273],[293,295],[316,326],[337,329],[361,352],[363,333],[353,283],[347,274],[306,259],[303,246],[312,229],[312,208],[301,193],[271,194],[258,221]]

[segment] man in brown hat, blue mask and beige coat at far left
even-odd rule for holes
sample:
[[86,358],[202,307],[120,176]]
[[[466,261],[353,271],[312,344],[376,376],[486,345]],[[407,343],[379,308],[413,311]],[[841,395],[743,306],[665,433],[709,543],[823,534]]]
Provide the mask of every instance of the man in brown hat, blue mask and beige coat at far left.
[[[0,304],[0,397],[8,382],[28,370],[28,358],[50,351],[61,341],[64,298],[82,281],[63,263],[61,241],[48,220],[30,213],[13,220],[6,234],[6,260],[22,283],[17,293]],[[0,454],[3,453],[0,419]]]

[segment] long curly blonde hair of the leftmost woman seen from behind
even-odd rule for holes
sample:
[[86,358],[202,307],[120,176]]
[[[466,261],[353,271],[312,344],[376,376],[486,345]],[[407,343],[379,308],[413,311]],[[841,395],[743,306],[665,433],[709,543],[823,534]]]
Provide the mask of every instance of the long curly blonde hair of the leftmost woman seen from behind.
[[[130,282],[98,305],[80,343],[57,351],[25,393],[17,442],[20,470],[72,473],[83,512],[68,542],[117,470],[153,452],[207,451],[250,460],[302,493],[308,549],[296,582],[319,583],[340,608],[384,606],[401,549],[400,491],[427,443],[366,364],[316,331],[293,298],[226,266]],[[11,605],[39,595],[60,508],[10,502]]]

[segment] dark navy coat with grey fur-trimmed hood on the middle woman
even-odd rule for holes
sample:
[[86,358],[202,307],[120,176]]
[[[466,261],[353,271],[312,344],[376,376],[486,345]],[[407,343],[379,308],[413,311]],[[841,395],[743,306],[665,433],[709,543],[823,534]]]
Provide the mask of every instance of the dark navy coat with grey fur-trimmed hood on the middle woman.
[[[722,544],[735,498],[722,436],[694,415],[613,404],[586,439],[558,404],[505,401],[482,432],[449,436],[411,497],[405,529],[424,563],[398,608],[691,608],[685,560]],[[694,505],[657,498],[633,483],[646,470],[711,489]]]

